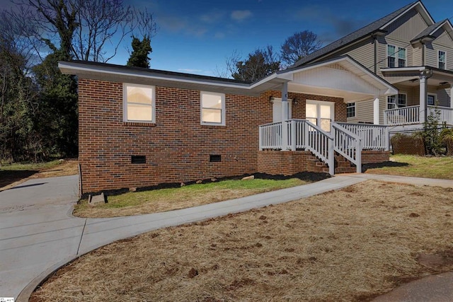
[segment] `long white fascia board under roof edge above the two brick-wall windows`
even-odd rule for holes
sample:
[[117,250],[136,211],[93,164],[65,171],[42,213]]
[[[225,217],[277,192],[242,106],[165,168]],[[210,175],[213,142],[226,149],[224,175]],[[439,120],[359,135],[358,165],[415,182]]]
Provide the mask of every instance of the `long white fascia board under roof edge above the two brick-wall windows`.
[[58,67],[61,70],[66,71],[86,71],[86,72],[96,72],[99,74],[114,74],[117,76],[137,76],[139,78],[145,79],[155,79],[155,80],[164,80],[164,81],[173,81],[173,82],[183,82],[183,83],[193,83],[193,84],[205,84],[205,85],[212,85],[212,86],[221,86],[226,88],[241,88],[241,89],[250,89],[250,85],[248,84],[240,84],[240,83],[221,83],[218,81],[207,81],[207,80],[191,80],[191,79],[183,79],[182,77],[175,78],[174,76],[165,76],[165,75],[153,75],[153,74],[143,74],[137,72],[130,72],[130,71],[112,71],[112,70],[104,70],[103,68],[96,68],[96,67],[84,67],[84,66],[74,66],[68,63],[58,63]]

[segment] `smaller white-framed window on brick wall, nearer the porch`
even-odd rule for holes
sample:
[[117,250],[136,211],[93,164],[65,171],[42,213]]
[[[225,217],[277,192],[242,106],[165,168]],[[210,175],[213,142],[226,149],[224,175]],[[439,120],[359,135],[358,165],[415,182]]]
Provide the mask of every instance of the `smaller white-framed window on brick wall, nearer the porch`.
[[201,124],[225,125],[225,95],[201,92]]

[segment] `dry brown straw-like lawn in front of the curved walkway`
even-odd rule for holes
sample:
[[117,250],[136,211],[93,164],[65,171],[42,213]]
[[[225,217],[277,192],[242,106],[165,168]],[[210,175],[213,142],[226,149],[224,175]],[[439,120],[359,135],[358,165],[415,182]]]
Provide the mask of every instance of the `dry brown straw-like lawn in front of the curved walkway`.
[[451,189],[369,180],[112,243],[61,269],[33,298],[367,300],[403,280],[453,269],[452,261],[417,261],[453,250],[452,214]]

